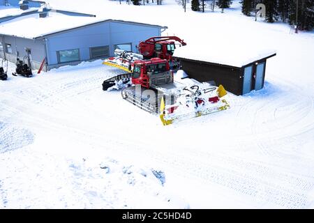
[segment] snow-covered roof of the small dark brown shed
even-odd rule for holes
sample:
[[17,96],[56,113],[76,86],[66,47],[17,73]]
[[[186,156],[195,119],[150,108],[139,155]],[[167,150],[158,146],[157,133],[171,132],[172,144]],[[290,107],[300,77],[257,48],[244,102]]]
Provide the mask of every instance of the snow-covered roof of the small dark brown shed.
[[204,45],[186,45],[184,47],[177,47],[174,50],[174,56],[178,58],[218,63],[238,68],[274,54],[276,54],[274,49],[252,47],[251,45],[246,45],[246,43],[239,43],[237,46],[211,45],[208,43]]

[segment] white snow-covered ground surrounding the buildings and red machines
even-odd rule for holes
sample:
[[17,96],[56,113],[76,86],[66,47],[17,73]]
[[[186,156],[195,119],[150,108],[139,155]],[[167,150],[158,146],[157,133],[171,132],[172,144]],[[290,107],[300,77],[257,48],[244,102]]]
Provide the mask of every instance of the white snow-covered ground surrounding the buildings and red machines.
[[314,208],[313,32],[255,22],[237,2],[204,14],[170,0],[59,2],[50,0],[167,25],[165,35],[203,43],[200,54],[221,45],[241,57],[235,49],[244,45],[277,56],[267,61],[264,89],[229,95],[230,109],[169,126],[102,91],[120,71],[101,61],[9,75],[0,82],[0,208]]

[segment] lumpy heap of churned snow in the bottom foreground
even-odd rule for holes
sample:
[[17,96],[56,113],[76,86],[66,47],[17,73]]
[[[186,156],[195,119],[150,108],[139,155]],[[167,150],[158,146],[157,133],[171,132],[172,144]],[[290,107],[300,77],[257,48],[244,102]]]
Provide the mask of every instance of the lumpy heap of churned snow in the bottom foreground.
[[[97,160],[100,160],[97,158]],[[188,203],[170,195],[165,189],[166,174],[160,169],[122,164],[110,157],[98,165],[89,158],[69,160],[75,191],[89,199],[87,207],[101,206],[102,200],[111,201],[106,208],[137,208],[142,202],[152,207],[188,208]],[[105,207],[103,207],[105,208]]]

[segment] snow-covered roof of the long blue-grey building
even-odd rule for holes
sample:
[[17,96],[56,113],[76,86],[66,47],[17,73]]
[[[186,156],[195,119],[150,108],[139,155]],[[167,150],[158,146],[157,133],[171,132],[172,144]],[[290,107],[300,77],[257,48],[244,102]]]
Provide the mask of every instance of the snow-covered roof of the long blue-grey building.
[[[0,23],[0,34],[8,36],[18,36],[22,38],[40,38],[53,33],[76,29],[99,22],[118,21],[133,24],[141,24],[137,22],[128,22],[123,20],[99,20],[96,17],[80,17],[64,15],[62,13],[52,13],[45,18],[40,18],[38,14],[25,15],[14,20]],[[145,26],[158,26],[153,24],[141,24]]]

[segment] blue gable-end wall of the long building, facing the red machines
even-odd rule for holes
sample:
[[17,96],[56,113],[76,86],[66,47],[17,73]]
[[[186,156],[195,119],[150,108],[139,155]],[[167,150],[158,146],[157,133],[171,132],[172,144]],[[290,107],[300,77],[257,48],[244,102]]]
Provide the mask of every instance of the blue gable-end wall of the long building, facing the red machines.
[[90,47],[109,46],[110,56],[114,55],[114,45],[131,43],[137,52],[140,40],[160,36],[160,28],[124,22],[103,22],[47,37],[47,58],[50,68],[59,66],[57,52],[66,49],[80,49],[80,60],[89,60]]

